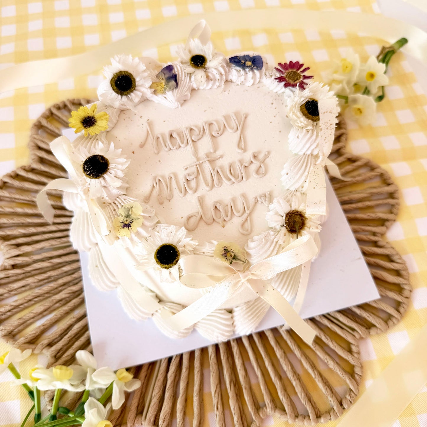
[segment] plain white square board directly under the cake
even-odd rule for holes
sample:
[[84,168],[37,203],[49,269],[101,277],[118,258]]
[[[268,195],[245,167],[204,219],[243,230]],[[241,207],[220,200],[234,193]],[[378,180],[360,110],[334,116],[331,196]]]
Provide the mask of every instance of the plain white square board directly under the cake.
[[[300,314],[303,318],[341,310],[380,298],[338,199],[328,183],[329,216],[322,225],[322,249],[313,262]],[[123,310],[116,291],[102,292],[91,283],[88,254],[81,253],[86,309],[92,348],[99,366],[119,369],[214,344],[193,330],[182,339],[161,333],[152,319],[137,322]],[[257,331],[283,325],[272,308]],[[237,336],[237,335],[236,335]]]

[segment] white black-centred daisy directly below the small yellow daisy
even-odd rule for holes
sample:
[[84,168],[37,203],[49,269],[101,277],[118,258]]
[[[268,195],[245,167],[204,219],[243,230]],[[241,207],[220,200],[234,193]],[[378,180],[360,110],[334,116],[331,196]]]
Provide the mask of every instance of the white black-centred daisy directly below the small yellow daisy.
[[88,193],[92,199],[107,197],[114,199],[128,186],[124,170],[129,160],[121,154],[121,149],[114,149],[114,144],[103,145],[100,141],[90,149],[77,147],[71,157],[76,164],[80,190]]

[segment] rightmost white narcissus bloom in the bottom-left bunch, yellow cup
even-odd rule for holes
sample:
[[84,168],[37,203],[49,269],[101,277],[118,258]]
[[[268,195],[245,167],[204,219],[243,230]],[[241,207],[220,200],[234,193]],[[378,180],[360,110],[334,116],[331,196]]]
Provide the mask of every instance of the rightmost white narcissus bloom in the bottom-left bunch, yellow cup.
[[94,372],[93,378],[105,386],[113,383],[113,409],[120,408],[123,405],[125,392],[132,392],[141,385],[140,380],[135,379],[126,369],[119,369],[114,372],[110,368],[100,368]]

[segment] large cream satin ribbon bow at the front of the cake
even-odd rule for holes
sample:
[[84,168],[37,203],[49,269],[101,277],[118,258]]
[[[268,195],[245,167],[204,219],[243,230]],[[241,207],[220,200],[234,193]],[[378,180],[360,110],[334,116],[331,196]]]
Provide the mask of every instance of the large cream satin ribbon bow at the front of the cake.
[[301,319],[286,298],[266,280],[304,264],[316,254],[317,246],[313,237],[307,234],[292,242],[281,254],[247,266],[243,271],[217,258],[206,255],[187,255],[179,261],[181,283],[190,288],[201,289],[211,286],[213,288],[180,312],[171,316],[167,309],[163,309],[161,315],[173,330],[188,328],[221,307],[242,287],[249,286],[286,320],[290,328],[308,345],[311,345],[316,332]]

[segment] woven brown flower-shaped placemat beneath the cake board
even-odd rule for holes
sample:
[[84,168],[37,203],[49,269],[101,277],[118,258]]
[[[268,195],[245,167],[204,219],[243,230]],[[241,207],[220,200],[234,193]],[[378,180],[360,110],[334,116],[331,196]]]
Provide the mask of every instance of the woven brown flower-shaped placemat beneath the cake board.
[[[70,112],[88,102],[69,99],[47,109],[31,129],[30,165],[0,181],[0,336],[44,352],[50,365],[72,363],[77,350],[91,351],[91,342],[79,255],[69,240],[72,213],[52,191],[56,215],[48,224],[35,197],[49,181],[66,177],[49,143],[68,127]],[[168,426],[176,418],[178,427],[188,421],[198,427],[206,411],[218,426],[226,419],[258,425],[272,414],[316,424],[352,404],[362,375],[358,341],[401,319],[411,287],[404,261],[384,240],[398,212],[398,188],[378,165],[347,152],[346,140],[340,117],[330,157],[351,181],[333,179],[333,188],[381,299],[308,320],[317,332],[312,348],[292,331],[274,328],[133,367],[142,386],[128,397],[127,409],[111,414],[113,425]]]

